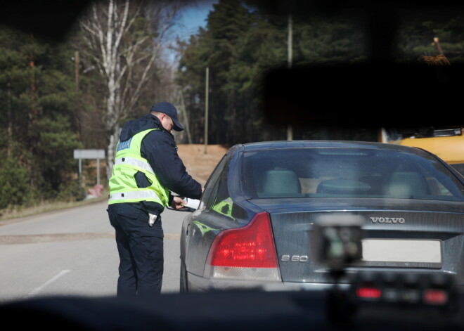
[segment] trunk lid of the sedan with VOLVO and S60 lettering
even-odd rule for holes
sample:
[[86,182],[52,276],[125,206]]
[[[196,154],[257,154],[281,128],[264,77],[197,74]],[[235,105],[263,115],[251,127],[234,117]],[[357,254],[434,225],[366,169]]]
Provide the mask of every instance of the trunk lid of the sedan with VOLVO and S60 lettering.
[[314,259],[314,248],[311,248],[314,223],[321,215],[329,218],[333,215],[336,221],[350,214],[363,220],[363,259],[349,266],[348,273],[408,271],[453,273],[460,277],[464,273],[463,212],[427,212],[418,208],[366,210],[365,207],[333,207],[326,209],[330,210],[327,212],[308,211],[297,205],[288,212],[281,207],[274,205],[268,212],[284,283],[333,281],[326,264]]

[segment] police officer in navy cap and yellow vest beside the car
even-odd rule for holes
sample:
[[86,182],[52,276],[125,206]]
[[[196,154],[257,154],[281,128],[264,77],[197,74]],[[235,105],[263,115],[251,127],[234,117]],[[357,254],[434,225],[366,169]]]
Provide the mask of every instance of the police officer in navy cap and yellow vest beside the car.
[[172,130],[182,131],[172,103],[124,124],[110,178],[108,215],[120,255],[117,296],[160,294],[163,273],[161,213],[183,200],[200,199],[202,188],[177,154]]

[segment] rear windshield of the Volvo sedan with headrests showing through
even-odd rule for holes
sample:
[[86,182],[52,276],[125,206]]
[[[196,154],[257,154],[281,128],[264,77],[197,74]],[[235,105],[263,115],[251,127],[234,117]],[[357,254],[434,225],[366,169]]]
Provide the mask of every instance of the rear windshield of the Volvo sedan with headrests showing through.
[[289,148],[248,152],[250,198],[393,197],[464,201],[463,185],[439,161],[363,148]]

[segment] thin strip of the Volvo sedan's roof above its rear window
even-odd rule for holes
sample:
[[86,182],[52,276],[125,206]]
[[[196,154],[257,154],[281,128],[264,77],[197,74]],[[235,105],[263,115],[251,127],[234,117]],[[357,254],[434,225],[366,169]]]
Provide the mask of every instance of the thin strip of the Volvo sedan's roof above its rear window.
[[420,152],[420,148],[412,148],[391,143],[374,143],[366,141],[262,141],[257,143],[244,143],[236,146],[242,149],[244,152],[256,152],[258,150],[275,150],[283,148],[371,148],[423,154],[423,152]]

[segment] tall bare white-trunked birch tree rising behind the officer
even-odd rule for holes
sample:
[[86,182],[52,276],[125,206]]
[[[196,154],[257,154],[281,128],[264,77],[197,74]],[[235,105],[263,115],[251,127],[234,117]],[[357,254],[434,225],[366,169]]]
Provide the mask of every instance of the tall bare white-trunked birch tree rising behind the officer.
[[134,114],[150,72],[160,69],[162,39],[183,1],[100,1],[80,20],[86,49],[105,83],[106,174],[111,176],[124,119]]

